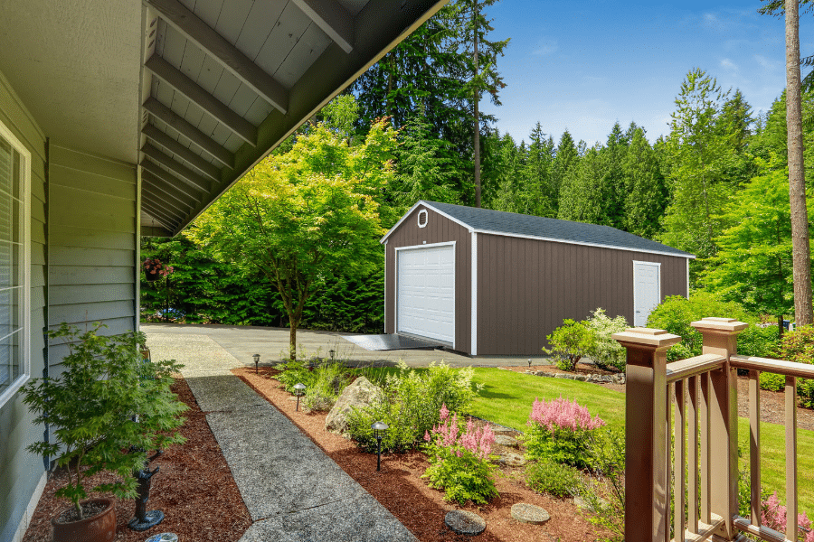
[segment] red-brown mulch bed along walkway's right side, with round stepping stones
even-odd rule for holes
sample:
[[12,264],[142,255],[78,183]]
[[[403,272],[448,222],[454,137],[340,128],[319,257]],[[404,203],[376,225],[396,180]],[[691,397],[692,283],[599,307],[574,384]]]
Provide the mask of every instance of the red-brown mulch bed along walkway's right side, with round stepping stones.
[[[376,456],[358,451],[355,444],[342,436],[325,430],[324,412],[295,411],[296,402],[279,388],[279,382],[270,378],[278,371],[261,369],[260,375],[254,369],[233,369],[232,372],[266,397],[271,405],[297,425],[345,472],[383,506],[390,510],[405,527],[421,542],[448,542],[452,540],[473,540],[482,542],[512,541],[531,542],[532,540],[561,540],[562,542],[582,542],[597,538],[592,526],[582,517],[580,510],[571,500],[560,500],[539,495],[525,487],[522,481],[523,469],[506,468],[497,478],[497,491],[500,497],[487,506],[465,506],[444,502],[443,492],[427,487],[421,474],[427,469],[427,457],[421,452],[388,454],[382,458],[382,471],[376,472]],[[527,502],[546,509],[552,519],[543,526],[520,523],[511,518],[511,506],[517,502]],[[487,529],[477,537],[463,537],[454,534],[444,526],[444,515],[451,509],[466,509],[480,515],[487,521]]]

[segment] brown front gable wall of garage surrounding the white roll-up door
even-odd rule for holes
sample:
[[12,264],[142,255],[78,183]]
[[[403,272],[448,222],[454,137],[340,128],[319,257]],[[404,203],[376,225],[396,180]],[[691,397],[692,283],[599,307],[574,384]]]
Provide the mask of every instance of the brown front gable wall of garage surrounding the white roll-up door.
[[387,238],[385,250],[386,287],[384,307],[384,332],[395,333],[395,248],[413,247],[432,243],[455,243],[455,348],[463,352],[471,350],[472,308],[472,243],[469,229],[460,226],[434,210],[427,209],[428,223],[418,227],[418,212],[423,205],[412,210],[393,234]]

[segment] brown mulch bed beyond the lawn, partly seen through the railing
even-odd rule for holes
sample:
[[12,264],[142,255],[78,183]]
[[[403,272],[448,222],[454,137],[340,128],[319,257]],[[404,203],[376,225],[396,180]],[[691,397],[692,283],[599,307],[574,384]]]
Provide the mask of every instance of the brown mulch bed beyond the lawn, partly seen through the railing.
[[[557,369],[555,365],[535,365],[532,367],[506,367],[505,369],[515,372],[525,372],[525,370],[542,370],[548,373],[569,372]],[[577,363],[576,370],[570,371],[574,374],[611,374],[601,369],[596,369],[591,365]],[[625,392],[624,384],[598,384],[602,388],[613,389]],[[749,378],[738,377],[738,416],[749,417]],[[786,425],[786,397],[782,391],[761,390],[761,421],[767,424]],[[814,410],[797,406],[797,426],[800,429],[814,431]]]

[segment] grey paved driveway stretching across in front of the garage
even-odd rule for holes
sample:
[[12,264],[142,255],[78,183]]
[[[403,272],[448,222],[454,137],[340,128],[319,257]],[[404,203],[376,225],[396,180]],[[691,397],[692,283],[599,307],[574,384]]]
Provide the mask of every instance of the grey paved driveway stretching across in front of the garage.
[[[260,354],[260,363],[269,364],[288,357],[289,330],[287,328],[248,327],[230,325],[198,325],[173,323],[142,323],[141,331],[147,337],[160,335],[183,335],[208,338],[222,347],[241,365],[254,367],[253,354]],[[431,361],[444,360],[452,367],[469,365],[488,367],[508,367],[526,365],[529,358],[532,365],[547,365],[551,361],[540,352],[538,356],[469,356],[457,354],[450,350],[364,350],[341,335],[352,333],[311,332],[298,330],[298,350],[307,358],[317,356],[328,358],[329,351],[334,350],[336,360],[351,360],[356,363],[382,363],[395,365],[403,360],[411,367],[426,367]],[[211,360],[206,361],[207,367]]]

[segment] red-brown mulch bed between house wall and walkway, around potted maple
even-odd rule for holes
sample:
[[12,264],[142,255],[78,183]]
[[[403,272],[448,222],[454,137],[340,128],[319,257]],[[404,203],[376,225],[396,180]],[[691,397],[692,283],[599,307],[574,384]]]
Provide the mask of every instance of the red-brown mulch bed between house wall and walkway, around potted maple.
[[[147,501],[147,510],[161,510],[166,518],[147,531],[133,531],[128,528],[128,521],[135,517],[135,502],[117,500],[116,540],[141,542],[163,532],[173,532],[185,542],[238,540],[251,525],[249,510],[243,504],[232,472],[223,459],[204,413],[183,378],[176,379],[173,391],[190,407],[185,413],[185,424],[181,427],[181,434],[187,440],[183,445],[170,447],[150,463],[150,470],[155,470],[156,466],[161,468],[153,476],[150,499]],[[114,479],[109,472],[99,472],[90,482],[95,485]],[[68,501],[53,497],[53,492],[65,481],[66,472],[58,470],[53,473],[23,542],[51,540],[52,516],[69,506]]]

